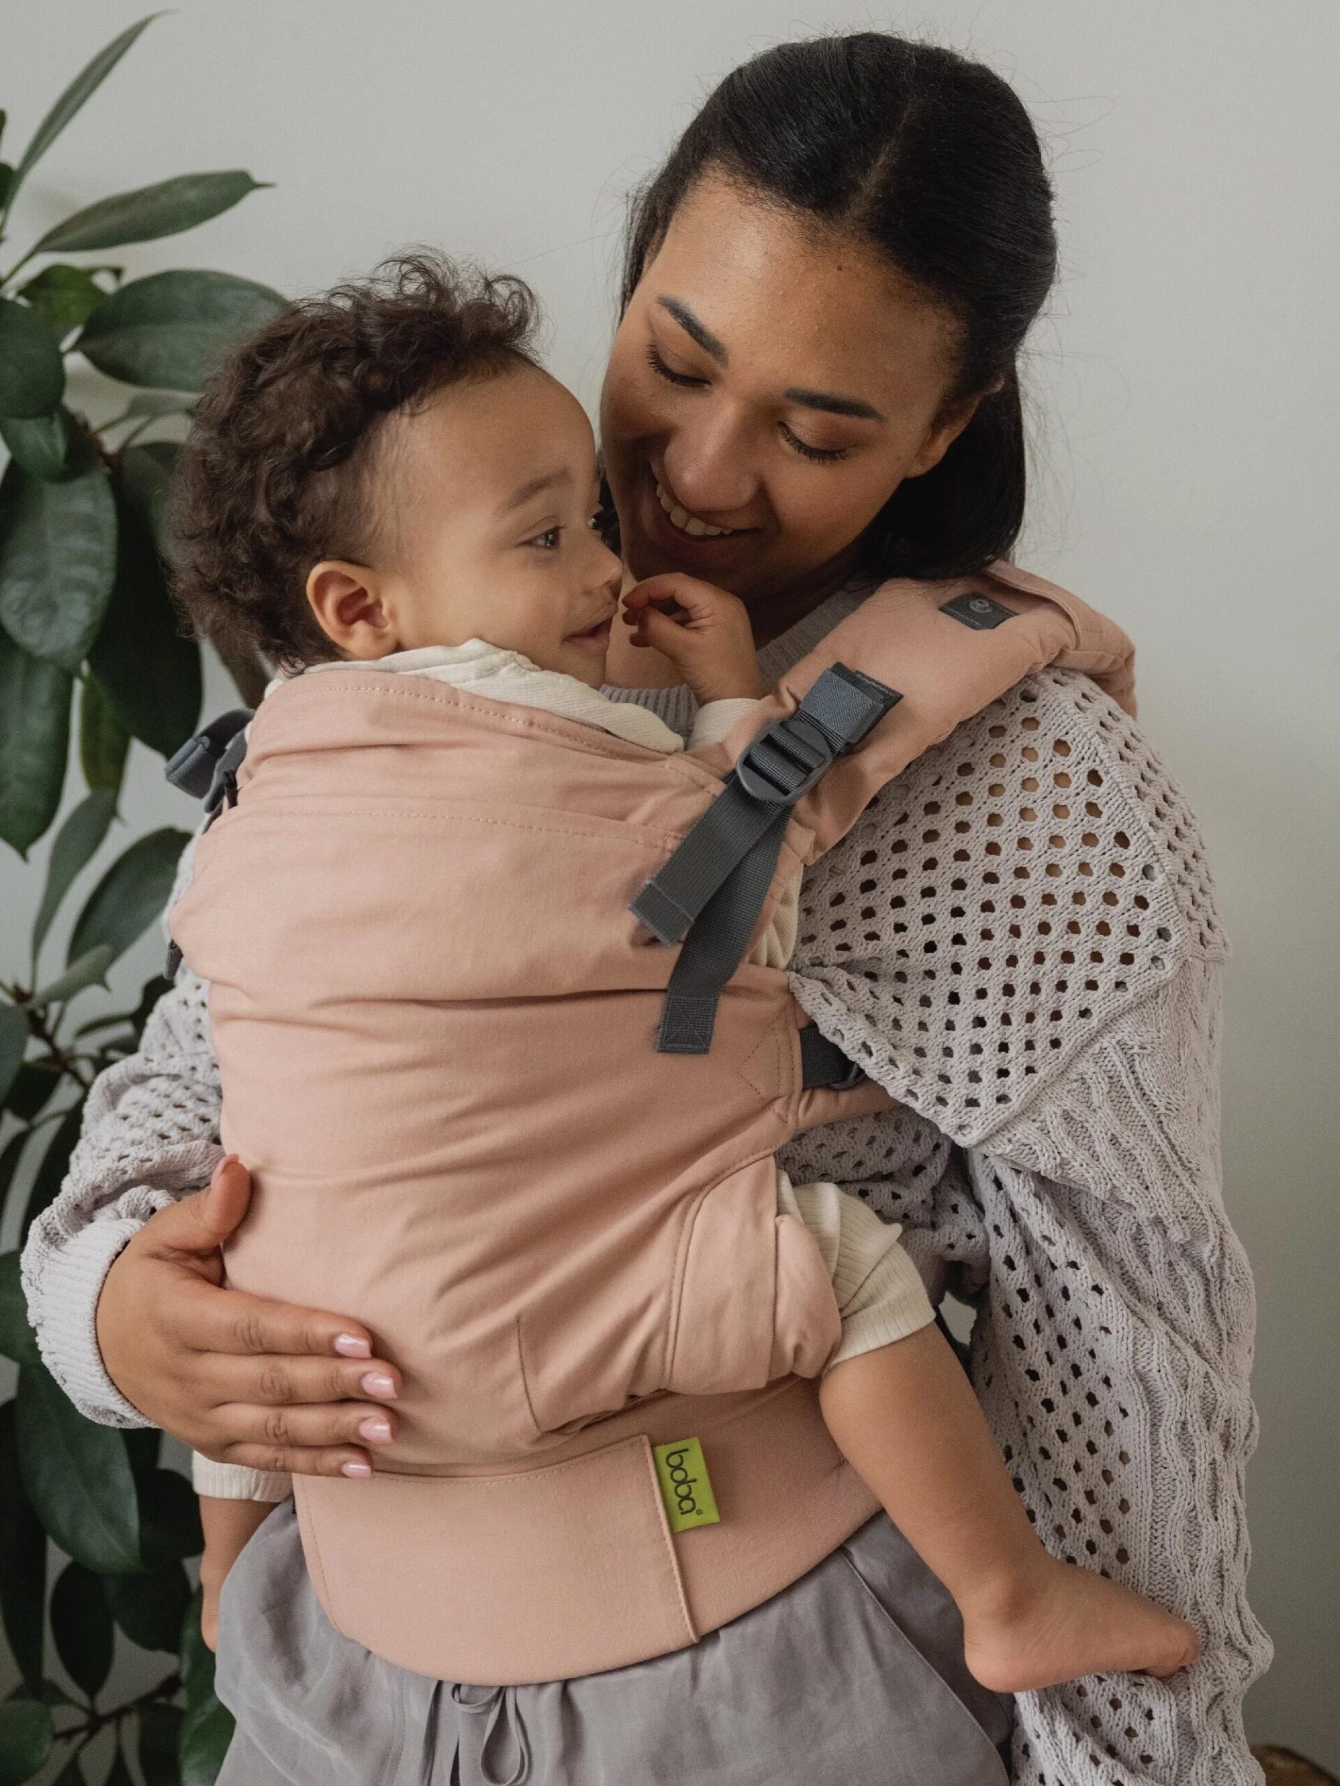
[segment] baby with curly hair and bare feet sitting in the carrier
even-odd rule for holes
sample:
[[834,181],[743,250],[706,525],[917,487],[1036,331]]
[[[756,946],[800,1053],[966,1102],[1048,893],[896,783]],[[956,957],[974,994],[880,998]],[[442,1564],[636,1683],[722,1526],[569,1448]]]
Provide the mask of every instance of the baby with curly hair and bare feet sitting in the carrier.
[[[286,675],[423,677],[683,750],[654,713],[600,693],[624,625],[697,697],[690,750],[718,741],[765,693],[749,614],[690,577],[622,589],[597,529],[590,423],[532,357],[531,323],[516,282],[465,280],[429,259],[270,323],[197,420],[182,600],[198,630],[259,647]],[[229,493],[257,464],[272,500],[243,529]],[[784,966],[793,941],[795,888],[752,959]],[[954,1595],[977,1679],[1018,1691],[1190,1663],[1197,1640],[1179,1618],[1042,1547],[897,1227],[781,1170],[777,1211],[813,1236],[842,1316],[824,1418]],[[213,1641],[220,1584],[286,1482],[207,1459],[195,1481]]]

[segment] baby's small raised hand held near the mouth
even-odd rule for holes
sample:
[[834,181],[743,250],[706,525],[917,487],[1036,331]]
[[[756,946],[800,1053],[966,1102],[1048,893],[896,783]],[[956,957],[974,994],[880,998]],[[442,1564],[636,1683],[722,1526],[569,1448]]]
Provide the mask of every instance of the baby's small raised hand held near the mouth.
[[700,704],[758,700],[754,632],[743,602],[697,577],[666,572],[634,584],[624,597],[634,645],[654,645],[679,670]]

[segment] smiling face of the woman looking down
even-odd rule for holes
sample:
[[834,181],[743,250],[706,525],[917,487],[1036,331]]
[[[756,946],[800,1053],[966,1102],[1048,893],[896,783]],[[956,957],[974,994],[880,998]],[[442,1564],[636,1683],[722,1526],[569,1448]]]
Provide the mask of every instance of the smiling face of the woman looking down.
[[766,638],[836,588],[904,477],[940,461],[956,329],[850,238],[722,175],[675,211],[624,314],[600,400],[638,577],[683,570]]

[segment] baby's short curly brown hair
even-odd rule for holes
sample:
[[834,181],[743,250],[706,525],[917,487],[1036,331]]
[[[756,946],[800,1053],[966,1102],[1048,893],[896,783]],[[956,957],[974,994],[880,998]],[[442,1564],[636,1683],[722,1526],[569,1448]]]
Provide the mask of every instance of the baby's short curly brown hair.
[[386,421],[443,386],[538,364],[507,275],[416,252],[286,305],[205,386],[175,479],[173,588],[197,634],[281,668],[338,655],[307,605],[323,557],[366,559]]

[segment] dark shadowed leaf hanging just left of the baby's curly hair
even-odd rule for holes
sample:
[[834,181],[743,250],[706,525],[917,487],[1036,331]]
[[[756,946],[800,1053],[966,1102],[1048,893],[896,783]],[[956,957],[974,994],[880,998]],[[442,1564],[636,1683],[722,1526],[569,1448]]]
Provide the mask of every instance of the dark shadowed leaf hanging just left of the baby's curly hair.
[[182,630],[152,536],[163,525],[173,450],[161,441],[123,455],[116,586],[89,652],[121,725],[164,757],[195,732],[202,700],[200,647]]

